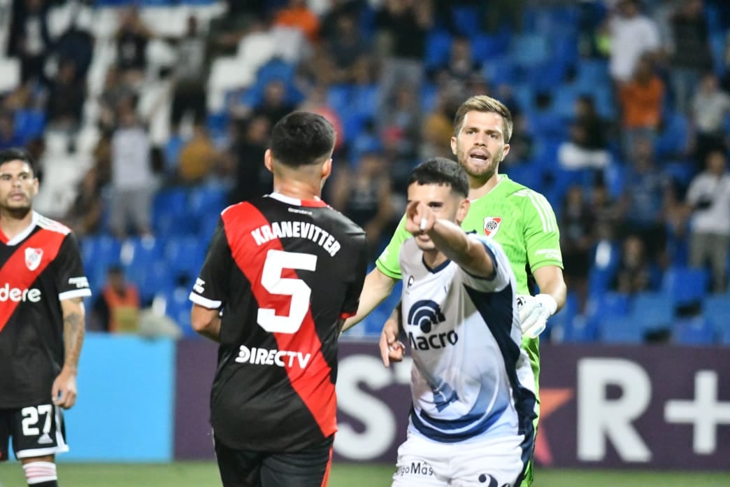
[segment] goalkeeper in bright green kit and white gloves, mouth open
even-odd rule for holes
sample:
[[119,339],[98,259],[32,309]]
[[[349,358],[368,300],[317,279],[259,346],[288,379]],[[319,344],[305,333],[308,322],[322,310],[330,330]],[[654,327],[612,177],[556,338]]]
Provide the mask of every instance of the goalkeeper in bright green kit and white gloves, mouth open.
[[[493,238],[502,245],[517,277],[522,346],[530,357],[535,390],[539,391],[538,337],[545,330],[548,318],[565,304],[567,290],[553,208],[542,194],[499,174],[499,163],[510,152],[511,136],[510,110],[490,96],[472,96],[456,112],[451,150],[469,175],[471,207],[462,228]],[[344,329],[361,321],[390,296],[393,286],[401,280],[398,254],[409,237],[401,221],[388,247],[377,258],[376,268],[366,277],[357,315],[345,322]],[[539,288],[536,296],[530,295],[528,272]],[[397,316],[394,312],[380,337],[380,352],[386,366],[403,356]],[[537,419],[535,422],[537,431]],[[523,486],[531,485],[532,478],[530,466]]]

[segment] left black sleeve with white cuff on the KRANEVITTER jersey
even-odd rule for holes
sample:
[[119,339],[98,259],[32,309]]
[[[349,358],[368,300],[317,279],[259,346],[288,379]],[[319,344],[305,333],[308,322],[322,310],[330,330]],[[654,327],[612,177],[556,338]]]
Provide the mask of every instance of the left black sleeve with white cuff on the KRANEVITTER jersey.
[[228,296],[228,274],[232,266],[231,246],[228,245],[223,220],[220,220],[210,240],[200,275],[193,284],[190,300],[211,310],[223,306]]

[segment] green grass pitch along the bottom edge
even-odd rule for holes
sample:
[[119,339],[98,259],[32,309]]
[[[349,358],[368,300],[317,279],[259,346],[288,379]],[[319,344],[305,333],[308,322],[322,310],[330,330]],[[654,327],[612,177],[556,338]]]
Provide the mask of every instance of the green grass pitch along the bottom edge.
[[[391,465],[336,463],[329,487],[390,486]],[[172,464],[74,464],[58,465],[61,487],[219,487],[218,470],[212,462]],[[1,487],[24,487],[17,461],[0,464]],[[535,487],[727,487],[730,472],[623,472],[604,470],[538,469]]]

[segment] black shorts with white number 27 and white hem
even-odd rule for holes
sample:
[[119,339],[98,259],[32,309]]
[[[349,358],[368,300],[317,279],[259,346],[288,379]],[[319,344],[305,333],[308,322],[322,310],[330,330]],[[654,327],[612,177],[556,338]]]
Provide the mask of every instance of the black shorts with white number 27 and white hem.
[[0,461],[9,458],[8,440],[16,459],[55,455],[69,450],[64,418],[55,404],[0,409]]

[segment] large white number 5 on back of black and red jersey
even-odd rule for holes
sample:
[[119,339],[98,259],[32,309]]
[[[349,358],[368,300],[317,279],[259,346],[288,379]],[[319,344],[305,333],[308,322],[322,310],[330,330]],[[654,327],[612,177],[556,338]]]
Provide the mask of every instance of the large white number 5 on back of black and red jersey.
[[313,271],[317,267],[317,256],[312,253],[269,250],[266,253],[261,285],[271,294],[291,296],[288,315],[277,315],[276,310],[262,307],[258,310],[259,326],[269,333],[296,333],[310,309],[312,288],[301,279],[281,277],[283,269]]

